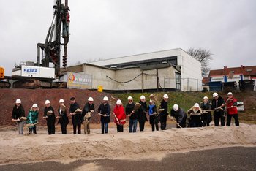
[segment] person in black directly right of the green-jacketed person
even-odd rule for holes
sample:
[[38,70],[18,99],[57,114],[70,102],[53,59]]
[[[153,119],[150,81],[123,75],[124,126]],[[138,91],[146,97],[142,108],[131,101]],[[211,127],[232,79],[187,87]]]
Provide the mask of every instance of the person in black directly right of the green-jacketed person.
[[48,134],[55,134],[55,114],[53,107],[50,106],[50,100],[45,100],[45,110],[44,110],[44,117],[43,119],[46,119],[47,121],[47,129]]

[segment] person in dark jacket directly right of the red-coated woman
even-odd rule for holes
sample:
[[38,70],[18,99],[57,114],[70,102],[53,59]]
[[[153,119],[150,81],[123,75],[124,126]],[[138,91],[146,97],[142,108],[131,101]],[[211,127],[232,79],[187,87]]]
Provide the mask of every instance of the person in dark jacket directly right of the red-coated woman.
[[138,110],[135,109],[135,103],[132,96],[128,96],[128,103],[125,107],[125,113],[129,117],[129,133],[136,132],[138,123]]

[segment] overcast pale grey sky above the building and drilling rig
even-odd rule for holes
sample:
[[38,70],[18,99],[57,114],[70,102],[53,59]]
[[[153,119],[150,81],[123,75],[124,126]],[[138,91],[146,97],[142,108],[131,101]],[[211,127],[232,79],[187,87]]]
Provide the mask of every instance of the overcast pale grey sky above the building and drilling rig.
[[[53,0],[0,0],[0,66],[36,61]],[[256,65],[255,0],[69,0],[69,65],[159,50],[201,47],[211,69]]]

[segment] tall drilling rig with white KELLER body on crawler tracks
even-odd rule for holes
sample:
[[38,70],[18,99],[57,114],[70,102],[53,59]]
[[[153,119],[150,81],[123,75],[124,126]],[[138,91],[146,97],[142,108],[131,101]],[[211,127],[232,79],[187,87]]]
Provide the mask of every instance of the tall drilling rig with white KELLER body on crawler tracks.
[[[37,43],[37,62],[23,62],[12,69],[13,88],[64,88],[61,81],[61,46],[63,69],[67,68],[67,44],[69,42],[69,6],[55,0],[53,4],[53,20],[48,29],[44,43]],[[61,38],[64,39],[61,42]],[[53,64],[54,67],[50,67]]]

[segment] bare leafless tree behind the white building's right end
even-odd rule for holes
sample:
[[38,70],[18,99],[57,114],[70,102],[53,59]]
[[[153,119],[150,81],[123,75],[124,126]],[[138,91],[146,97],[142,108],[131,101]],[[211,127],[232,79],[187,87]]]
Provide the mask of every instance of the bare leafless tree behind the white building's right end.
[[212,59],[212,53],[210,50],[206,49],[201,49],[201,48],[189,48],[187,50],[187,53],[189,53],[190,56],[193,58],[197,59],[197,61],[200,61],[201,66],[202,66],[202,76],[203,77],[208,77],[208,73],[210,72],[210,67],[209,67],[209,60]]

